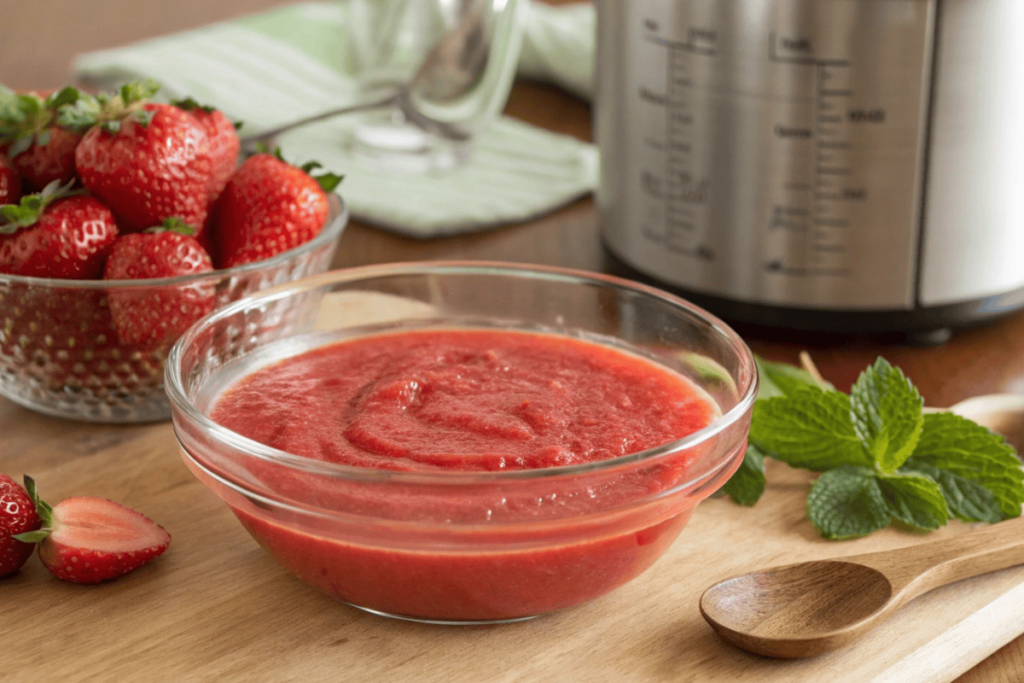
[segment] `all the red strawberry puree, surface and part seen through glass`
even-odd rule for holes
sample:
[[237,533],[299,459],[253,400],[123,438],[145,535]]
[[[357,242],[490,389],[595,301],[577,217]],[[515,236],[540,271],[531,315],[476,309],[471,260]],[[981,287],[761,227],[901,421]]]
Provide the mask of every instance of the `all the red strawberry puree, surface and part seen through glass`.
[[[639,356],[565,337],[468,330],[335,343],[243,379],[212,412],[241,434],[307,458],[425,472],[606,460],[675,440],[718,416],[688,380]],[[473,527],[478,538],[443,547],[408,531],[385,540],[386,521],[369,542],[353,543],[283,525],[257,507],[236,513],[285,566],[353,604],[429,618],[510,618],[591,599],[653,562],[696,501],[677,501],[671,512],[659,501],[656,514],[653,503],[639,503],[684,480],[694,455],[613,475],[512,481],[482,503],[475,494],[451,494],[442,517],[484,523]],[[292,496],[310,481],[280,470],[254,473]],[[309,498],[324,498],[323,481],[310,483]],[[337,483],[336,493],[360,513],[393,515],[404,507],[408,521],[437,513],[436,500],[422,490],[351,484],[342,493],[347,485]],[[540,485],[547,486],[541,496]],[[519,496],[517,487],[529,490]],[[595,522],[579,521],[630,500],[645,512],[618,514],[597,531]],[[484,509],[485,517],[472,517]],[[566,510],[574,519],[562,518]],[[506,521],[514,523],[499,523]],[[467,541],[476,545],[460,548]]]

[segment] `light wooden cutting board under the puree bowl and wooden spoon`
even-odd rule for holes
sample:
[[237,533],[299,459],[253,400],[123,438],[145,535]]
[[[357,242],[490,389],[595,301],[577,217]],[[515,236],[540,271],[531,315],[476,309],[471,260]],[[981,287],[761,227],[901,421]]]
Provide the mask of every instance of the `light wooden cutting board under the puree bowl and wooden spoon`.
[[645,574],[529,622],[437,627],[367,614],[306,587],[269,558],[182,464],[170,424],[111,427],[38,416],[0,399],[0,471],[33,474],[52,503],[111,498],[172,535],[168,552],[93,587],[33,560],[0,580],[0,681],[950,681],[1024,633],[1024,568],[919,598],[844,650],[774,660],[721,642],[702,591],[774,564],[851,555],[928,536],[886,529],[826,542],[804,515],[808,476],[769,463],[753,509],[702,503]]

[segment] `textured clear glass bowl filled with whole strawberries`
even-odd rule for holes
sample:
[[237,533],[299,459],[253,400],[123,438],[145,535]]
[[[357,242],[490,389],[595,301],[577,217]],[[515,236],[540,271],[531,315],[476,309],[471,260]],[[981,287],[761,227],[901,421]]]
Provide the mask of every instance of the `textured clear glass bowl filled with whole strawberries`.
[[[164,364],[174,341],[213,308],[327,270],[348,222],[341,199],[330,200],[319,234],[256,263],[135,281],[0,273],[0,395],[39,413],[87,422],[168,419]],[[112,300],[138,306],[171,297],[186,303],[158,337],[144,343],[119,337]]]

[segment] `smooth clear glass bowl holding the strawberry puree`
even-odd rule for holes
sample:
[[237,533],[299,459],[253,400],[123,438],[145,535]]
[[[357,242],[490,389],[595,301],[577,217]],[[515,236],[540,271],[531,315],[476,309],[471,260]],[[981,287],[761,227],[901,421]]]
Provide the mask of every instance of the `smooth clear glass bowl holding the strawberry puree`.
[[[687,378],[720,417],[640,453],[488,472],[324,462],[209,417],[227,387],[310,349],[464,329],[564,335],[640,355]],[[757,371],[729,328],[659,290],[557,268],[434,262],[331,271],[229,304],[174,346],[167,389],[184,462],[287,569],[371,612],[478,624],[571,607],[647,569],[742,460]]]

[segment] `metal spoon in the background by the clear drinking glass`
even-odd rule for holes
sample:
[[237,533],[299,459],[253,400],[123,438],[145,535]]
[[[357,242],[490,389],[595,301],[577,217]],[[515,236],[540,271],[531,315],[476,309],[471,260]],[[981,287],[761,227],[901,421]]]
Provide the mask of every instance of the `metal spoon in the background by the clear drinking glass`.
[[409,83],[397,86],[392,92],[376,99],[340,106],[270,130],[243,136],[240,140],[242,152],[251,155],[259,142],[267,143],[282,133],[310,123],[388,106],[398,106],[408,119],[449,139],[466,139],[467,131],[458,125],[427,116],[420,111],[422,105],[418,102],[451,102],[465,95],[480,82],[490,53],[490,38],[484,30],[484,8],[492,7],[490,2],[459,3],[462,16],[427,52]]

